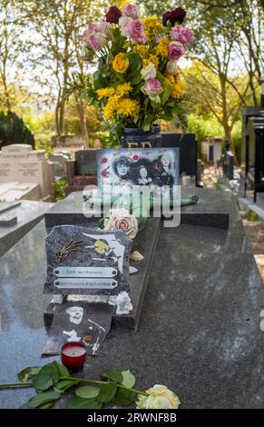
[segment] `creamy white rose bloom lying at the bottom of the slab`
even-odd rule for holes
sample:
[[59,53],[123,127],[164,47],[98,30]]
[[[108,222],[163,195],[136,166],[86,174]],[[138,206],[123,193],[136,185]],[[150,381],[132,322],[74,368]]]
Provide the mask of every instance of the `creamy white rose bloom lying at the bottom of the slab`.
[[178,409],[181,404],[179,397],[165,385],[155,384],[146,393],[149,395],[138,395],[136,409]]

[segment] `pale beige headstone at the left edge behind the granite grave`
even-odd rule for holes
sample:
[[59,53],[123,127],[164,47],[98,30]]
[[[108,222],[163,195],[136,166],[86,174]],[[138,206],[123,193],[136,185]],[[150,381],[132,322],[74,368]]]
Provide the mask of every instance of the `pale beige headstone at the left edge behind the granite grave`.
[[11,144],[0,151],[0,198],[2,201],[48,200],[53,194],[53,164],[44,150],[31,145]]

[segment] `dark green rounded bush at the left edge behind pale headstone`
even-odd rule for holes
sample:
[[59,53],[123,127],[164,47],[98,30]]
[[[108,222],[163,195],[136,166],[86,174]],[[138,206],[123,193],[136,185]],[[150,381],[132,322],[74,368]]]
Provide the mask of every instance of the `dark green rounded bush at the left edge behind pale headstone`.
[[9,144],[30,144],[34,147],[34,135],[24,121],[10,111],[0,113],[0,146]]

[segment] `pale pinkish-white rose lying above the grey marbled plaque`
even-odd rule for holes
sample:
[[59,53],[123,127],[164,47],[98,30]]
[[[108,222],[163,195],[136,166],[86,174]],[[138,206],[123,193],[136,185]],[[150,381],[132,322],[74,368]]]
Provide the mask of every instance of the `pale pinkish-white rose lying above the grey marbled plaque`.
[[138,222],[126,209],[112,209],[110,218],[104,220],[104,230],[122,230],[133,239],[138,233]]

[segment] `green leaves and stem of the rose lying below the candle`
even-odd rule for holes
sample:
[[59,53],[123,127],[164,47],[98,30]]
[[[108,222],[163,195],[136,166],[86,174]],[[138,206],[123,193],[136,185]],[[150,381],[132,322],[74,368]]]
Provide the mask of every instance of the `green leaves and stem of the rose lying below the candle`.
[[[85,378],[71,377],[65,366],[58,362],[47,363],[42,367],[27,367],[18,372],[18,378],[24,385],[32,385],[37,392],[23,409],[51,408],[62,394],[80,382],[89,382],[94,385],[83,385],[74,391],[74,396],[67,402],[67,409],[100,409],[103,403],[113,403],[127,406],[135,402],[137,394],[145,392],[133,389],[135,377],[130,371],[106,369],[103,381],[86,380]],[[31,382],[28,382],[29,380]],[[20,382],[20,385],[22,385]],[[14,386],[14,384],[1,384]]]

